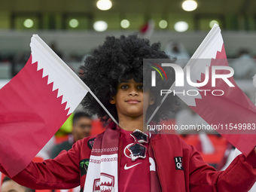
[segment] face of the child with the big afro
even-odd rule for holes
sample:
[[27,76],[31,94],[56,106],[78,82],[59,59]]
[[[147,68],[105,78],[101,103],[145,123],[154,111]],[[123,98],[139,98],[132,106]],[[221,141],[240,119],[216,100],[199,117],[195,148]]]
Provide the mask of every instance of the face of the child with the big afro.
[[137,83],[132,79],[118,85],[117,94],[110,99],[110,102],[116,105],[119,118],[120,115],[139,117],[147,111],[148,105],[154,104],[154,99],[148,91],[143,92],[142,83]]

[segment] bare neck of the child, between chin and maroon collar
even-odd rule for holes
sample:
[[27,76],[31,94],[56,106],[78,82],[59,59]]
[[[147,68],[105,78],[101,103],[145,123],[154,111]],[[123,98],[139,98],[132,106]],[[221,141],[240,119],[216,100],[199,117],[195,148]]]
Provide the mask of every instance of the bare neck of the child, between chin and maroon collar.
[[123,130],[126,131],[134,131],[134,130],[141,130],[143,131],[143,128],[146,128],[144,126],[145,120],[142,116],[139,117],[127,117],[127,116],[123,116],[123,117],[118,117],[119,119],[119,127]]

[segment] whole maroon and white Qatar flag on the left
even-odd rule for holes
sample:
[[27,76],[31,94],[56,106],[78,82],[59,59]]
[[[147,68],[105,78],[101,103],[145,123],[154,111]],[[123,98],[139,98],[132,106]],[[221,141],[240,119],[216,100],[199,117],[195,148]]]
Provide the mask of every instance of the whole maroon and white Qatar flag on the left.
[[0,163],[13,177],[31,162],[89,91],[38,37],[26,66],[0,90]]

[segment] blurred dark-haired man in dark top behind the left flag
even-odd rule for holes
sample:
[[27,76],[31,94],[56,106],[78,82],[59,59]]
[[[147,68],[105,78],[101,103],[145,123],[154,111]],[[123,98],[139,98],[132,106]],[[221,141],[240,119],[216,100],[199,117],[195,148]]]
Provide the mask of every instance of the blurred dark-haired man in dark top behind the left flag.
[[92,119],[90,115],[84,112],[75,113],[72,123],[72,134],[69,135],[69,140],[54,146],[50,158],[55,158],[63,150],[69,151],[75,142],[90,136],[91,127]]

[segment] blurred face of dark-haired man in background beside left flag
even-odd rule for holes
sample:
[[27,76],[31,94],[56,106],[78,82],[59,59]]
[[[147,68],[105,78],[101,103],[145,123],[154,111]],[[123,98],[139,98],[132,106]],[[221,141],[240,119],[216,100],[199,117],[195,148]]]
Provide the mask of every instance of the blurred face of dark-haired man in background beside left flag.
[[72,127],[72,134],[75,142],[84,139],[84,137],[90,136],[90,130],[92,126],[92,120],[89,117],[79,118]]

